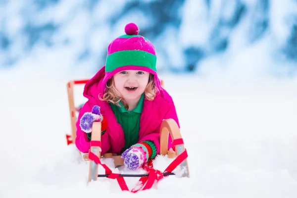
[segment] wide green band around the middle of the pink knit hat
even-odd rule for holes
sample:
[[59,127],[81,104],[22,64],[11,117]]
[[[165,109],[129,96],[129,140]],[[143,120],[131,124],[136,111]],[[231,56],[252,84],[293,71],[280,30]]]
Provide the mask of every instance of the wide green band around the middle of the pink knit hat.
[[117,51],[106,58],[105,71],[111,72],[122,66],[143,66],[156,70],[157,57],[151,53],[141,50]]

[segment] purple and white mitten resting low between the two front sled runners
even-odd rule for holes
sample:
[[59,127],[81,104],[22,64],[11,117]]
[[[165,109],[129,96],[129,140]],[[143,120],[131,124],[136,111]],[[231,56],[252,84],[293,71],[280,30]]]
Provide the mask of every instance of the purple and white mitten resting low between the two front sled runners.
[[122,153],[124,165],[129,170],[136,170],[147,161],[145,150],[141,147],[130,147]]

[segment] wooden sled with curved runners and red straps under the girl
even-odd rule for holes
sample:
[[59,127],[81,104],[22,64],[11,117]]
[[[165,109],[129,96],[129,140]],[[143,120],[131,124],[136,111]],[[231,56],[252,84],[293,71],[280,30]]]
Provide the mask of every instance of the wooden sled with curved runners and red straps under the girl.
[[[69,111],[71,116],[71,129],[72,135],[66,135],[67,145],[73,144],[76,137],[76,111],[78,108],[74,105],[73,86],[77,84],[85,84],[88,80],[70,81],[67,83],[67,92],[69,100]],[[177,123],[173,119],[163,120],[160,126],[160,151],[159,155],[172,158],[173,161],[163,171],[153,168],[153,160],[150,159],[142,168],[147,172],[146,174],[119,174],[112,173],[112,170],[104,163],[101,162],[102,158],[113,158],[115,166],[124,164],[121,155],[113,155],[112,153],[105,153],[101,156],[101,122],[94,122],[92,126],[91,148],[89,153],[81,153],[83,159],[89,161],[89,177],[88,183],[97,181],[99,177],[106,177],[109,179],[116,179],[120,188],[123,191],[130,191],[127,187],[124,177],[140,177],[137,187],[130,192],[136,193],[139,190],[147,190],[152,187],[155,181],[159,181],[164,177],[175,175],[172,173],[179,167],[179,177],[190,177],[189,167],[187,162],[187,150],[185,149],[184,142],[180,133]],[[168,150],[168,135],[171,135],[173,140],[173,148]],[[105,174],[98,174],[99,164],[105,169]],[[176,175],[177,176],[177,175]]]

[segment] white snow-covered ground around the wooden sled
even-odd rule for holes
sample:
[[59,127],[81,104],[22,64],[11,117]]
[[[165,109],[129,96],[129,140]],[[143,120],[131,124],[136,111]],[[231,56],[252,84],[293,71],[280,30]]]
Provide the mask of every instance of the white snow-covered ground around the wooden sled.
[[[68,79],[2,83],[0,198],[296,198],[297,81],[195,78],[163,77],[180,117],[191,178],[170,176],[136,195],[109,179],[86,185],[88,164],[78,162],[65,140]],[[162,170],[168,160],[155,163]],[[127,179],[129,187],[136,180]]]

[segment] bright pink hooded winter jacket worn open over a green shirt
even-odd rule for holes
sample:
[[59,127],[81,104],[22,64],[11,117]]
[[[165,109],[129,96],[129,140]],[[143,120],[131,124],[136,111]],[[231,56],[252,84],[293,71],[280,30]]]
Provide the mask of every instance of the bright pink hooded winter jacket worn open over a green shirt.
[[[125,146],[124,132],[120,124],[117,123],[116,117],[106,101],[101,101],[100,96],[103,96],[102,80],[105,75],[105,67],[103,66],[99,72],[86,83],[83,95],[88,99],[80,110],[76,123],[76,147],[83,153],[89,152],[90,141],[85,132],[79,126],[80,119],[85,112],[91,112],[94,105],[100,106],[100,112],[104,119],[107,120],[108,126],[105,133],[101,136],[101,154],[106,152],[120,154],[121,149]],[[158,80],[155,78],[155,80]],[[158,80],[159,81],[159,80]],[[159,84],[159,82],[157,83]],[[150,140],[156,148],[157,153],[160,150],[159,131],[163,119],[172,118],[178,126],[179,121],[175,106],[170,95],[163,89],[159,88],[160,93],[149,101],[144,100],[144,107],[140,118],[139,142]],[[172,147],[172,139],[169,135],[168,148]]]

